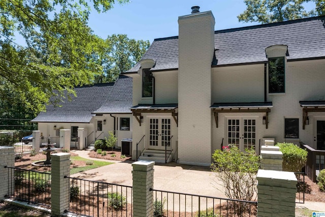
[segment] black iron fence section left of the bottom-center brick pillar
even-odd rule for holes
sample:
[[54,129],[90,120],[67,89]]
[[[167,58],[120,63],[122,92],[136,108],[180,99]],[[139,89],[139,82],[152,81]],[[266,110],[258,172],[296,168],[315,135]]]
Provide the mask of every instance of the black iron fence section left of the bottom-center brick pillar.
[[87,216],[132,216],[132,187],[80,178],[69,178],[69,212]]

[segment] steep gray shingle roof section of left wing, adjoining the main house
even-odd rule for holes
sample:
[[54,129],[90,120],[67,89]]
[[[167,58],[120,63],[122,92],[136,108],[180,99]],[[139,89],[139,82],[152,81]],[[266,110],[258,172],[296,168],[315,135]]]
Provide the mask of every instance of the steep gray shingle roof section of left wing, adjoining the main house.
[[120,75],[106,102],[97,110],[95,114],[103,113],[131,113],[132,107],[132,78]]

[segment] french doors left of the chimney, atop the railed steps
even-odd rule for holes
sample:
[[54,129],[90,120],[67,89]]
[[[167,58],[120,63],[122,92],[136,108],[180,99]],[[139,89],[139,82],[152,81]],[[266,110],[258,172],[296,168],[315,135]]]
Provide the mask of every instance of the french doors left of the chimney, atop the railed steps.
[[[149,149],[165,149],[171,137],[170,118],[149,118]],[[170,145],[168,145],[170,146]]]

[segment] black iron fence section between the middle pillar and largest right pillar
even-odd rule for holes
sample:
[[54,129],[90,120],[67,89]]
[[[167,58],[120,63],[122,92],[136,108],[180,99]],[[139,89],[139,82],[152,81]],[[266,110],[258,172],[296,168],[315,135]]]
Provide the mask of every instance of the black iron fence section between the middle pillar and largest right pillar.
[[257,201],[153,191],[154,216],[256,216]]

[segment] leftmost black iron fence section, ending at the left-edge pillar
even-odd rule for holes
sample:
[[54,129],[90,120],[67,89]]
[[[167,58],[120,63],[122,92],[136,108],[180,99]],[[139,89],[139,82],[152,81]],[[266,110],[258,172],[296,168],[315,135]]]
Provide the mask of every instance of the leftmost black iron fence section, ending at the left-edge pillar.
[[44,207],[51,206],[51,174],[16,167],[8,168],[8,197],[35,203]]

